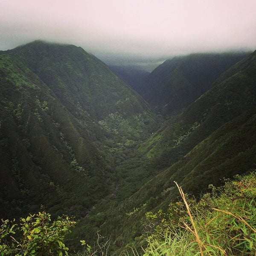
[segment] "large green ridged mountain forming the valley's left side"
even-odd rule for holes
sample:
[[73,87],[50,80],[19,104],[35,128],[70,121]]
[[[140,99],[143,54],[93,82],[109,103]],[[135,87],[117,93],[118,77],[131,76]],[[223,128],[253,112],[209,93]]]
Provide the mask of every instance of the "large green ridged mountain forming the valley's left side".
[[115,189],[116,158],[158,118],[80,47],[35,41],[0,54],[1,218],[83,216]]

